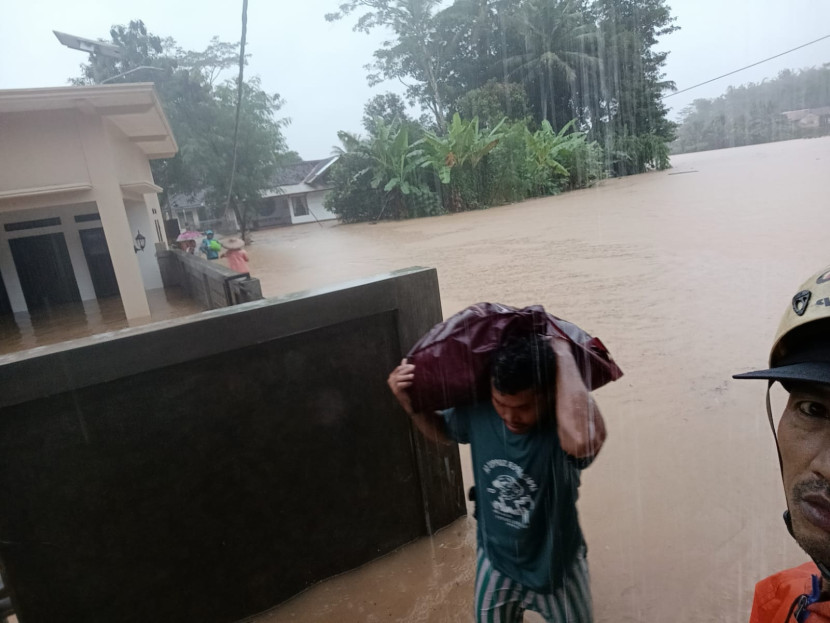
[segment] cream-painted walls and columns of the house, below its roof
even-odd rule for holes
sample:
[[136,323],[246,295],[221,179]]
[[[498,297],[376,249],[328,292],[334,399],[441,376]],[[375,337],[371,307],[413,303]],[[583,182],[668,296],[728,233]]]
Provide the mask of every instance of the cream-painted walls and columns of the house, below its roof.
[[[144,291],[160,287],[161,277],[152,252],[137,257],[133,240],[140,229],[151,249],[155,242],[166,241],[158,198],[153,193],[143,194],[153,177],[141,148],[112,122],[80,110],[4,113],[0,115],[0,137],[0,215],[25,221],[42,218],[35,217],[34,211],[62,215],[66,205],[97,205],[125,313],[130,319],[149,317]],[[132,204],[130,209],[125,205],[122,184],[137,189],[126,198]],[[73,185],[62,194],[54,192],[55,187]],[[71,220],[68,217],[64,216],[64,221]],[[29,235],[38,233],[49,232]],[[86,287],[85,263],[76,261],[83,254],[79,255],[72,231],[65,237],[81,297],[88,300],[91,288]],[[7,244],[0,240],[0,247]],[[19,279],[10,259],[10,253],[0,248],[0,271],[11,290],[13,310],[24,312],[27,307],[19,295]]]

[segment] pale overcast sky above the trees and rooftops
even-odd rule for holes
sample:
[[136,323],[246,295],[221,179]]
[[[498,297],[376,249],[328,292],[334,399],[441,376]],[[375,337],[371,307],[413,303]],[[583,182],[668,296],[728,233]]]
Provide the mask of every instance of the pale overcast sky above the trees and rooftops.
[[[52,30],[109,38],[112,24],[143,19],[154,33],[184,48],[203,49],[214,35],[237,41],[241,2],[205,0],[28,0],[4,3],[0,20],[0,89],[65,85],[85,55],[61,46]],[[370,89],[363,66],[381,34],[352,32],[353,20],[329,24],[339,0],[249,0],[249,74],[286,100],[289,146],[322,158],[338,130],[361,130],[363,104],[397,83]],[[827,0],[670,0],[681,30],[665,37],[667,77],[692,86],[830,34]],[[830,39],[746,72],[669,98],[673,113],[693,99],[716,97],[730,84],[774,77],[785,68],[830,62]]]

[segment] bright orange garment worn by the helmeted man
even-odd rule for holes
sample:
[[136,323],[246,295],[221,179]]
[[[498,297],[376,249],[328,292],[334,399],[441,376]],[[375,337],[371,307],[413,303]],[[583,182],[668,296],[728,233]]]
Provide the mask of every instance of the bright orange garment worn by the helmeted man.
[[[787,620],[787,614],[799,595],[811,593],[814,575],[819,575],[818,567],[808,562],[758,582],[749,623],[796,623],[794,616]],[[830,601],[817,601],[807,611],[804,623],[830,623]]]

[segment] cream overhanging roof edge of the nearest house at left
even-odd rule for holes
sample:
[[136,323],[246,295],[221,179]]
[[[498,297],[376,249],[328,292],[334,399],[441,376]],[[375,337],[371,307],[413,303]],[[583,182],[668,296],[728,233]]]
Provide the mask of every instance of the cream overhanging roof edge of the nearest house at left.
[[0,90],[0,115],[73,108],[106,117],[150,159],[179,150],[151,82]]

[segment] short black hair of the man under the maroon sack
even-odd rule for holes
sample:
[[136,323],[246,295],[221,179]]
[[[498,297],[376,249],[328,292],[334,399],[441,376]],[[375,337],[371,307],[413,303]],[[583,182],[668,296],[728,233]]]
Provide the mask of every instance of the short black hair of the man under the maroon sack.
[[555,372],[553,349],[535,333],[507,336],[493,354],[493,387],[502,394],[552,387]]

